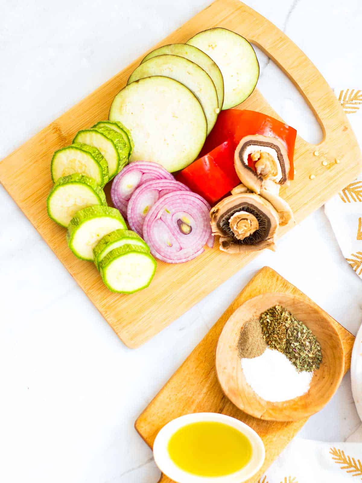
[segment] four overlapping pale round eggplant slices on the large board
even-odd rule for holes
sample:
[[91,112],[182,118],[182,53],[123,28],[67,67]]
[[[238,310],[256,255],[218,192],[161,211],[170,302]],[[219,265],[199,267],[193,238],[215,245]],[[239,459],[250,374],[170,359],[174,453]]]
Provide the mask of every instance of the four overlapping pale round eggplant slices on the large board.
[[131,161],[146,159],[178,171],[199,154],[205,121],[207,136],[220,110],[245,100],[258,77],[258,60],[246,39],[224,28],[205,30],[186,44],[164,45],[144,57],[113,100],[110,120],[130,129],[136,144]]

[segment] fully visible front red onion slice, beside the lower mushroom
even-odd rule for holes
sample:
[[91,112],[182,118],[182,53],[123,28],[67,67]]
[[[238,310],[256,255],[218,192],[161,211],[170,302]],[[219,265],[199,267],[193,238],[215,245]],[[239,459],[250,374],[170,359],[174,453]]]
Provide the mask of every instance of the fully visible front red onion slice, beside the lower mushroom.
[[156,201],[143,224],[152,255],[167,263],[200,255],[211,235],[209,211],[209,203],[192,191],[174,191]]

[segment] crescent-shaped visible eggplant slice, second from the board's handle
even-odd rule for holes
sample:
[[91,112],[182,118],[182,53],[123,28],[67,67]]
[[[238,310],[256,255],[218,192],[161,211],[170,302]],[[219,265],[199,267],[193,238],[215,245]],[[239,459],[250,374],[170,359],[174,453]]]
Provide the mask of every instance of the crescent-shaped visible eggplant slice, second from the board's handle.
[[142,59],[141,64],[150,58],[162,56],[164,54],[184,57],[192,62],[195,62],[195,64],[200,66],[201,69],[204,69],[204,71],[209,74],[212,82],[215,85],[219,101],[219,109],[221,111],[224,100],[223,74],[221,73],[219,66],[212,60],[212,58],[194,45],[189,45],[187,43],[170,43],[150,52]]

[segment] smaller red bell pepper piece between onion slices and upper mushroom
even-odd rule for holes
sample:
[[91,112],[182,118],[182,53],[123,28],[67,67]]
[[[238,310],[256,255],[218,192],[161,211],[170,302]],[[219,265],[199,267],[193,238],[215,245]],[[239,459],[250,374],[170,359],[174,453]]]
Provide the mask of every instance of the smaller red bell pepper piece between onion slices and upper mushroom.
[[240,184],[234,168],[234,151],[231,141],[223,142],[180,171],[176,179],[214,204]]

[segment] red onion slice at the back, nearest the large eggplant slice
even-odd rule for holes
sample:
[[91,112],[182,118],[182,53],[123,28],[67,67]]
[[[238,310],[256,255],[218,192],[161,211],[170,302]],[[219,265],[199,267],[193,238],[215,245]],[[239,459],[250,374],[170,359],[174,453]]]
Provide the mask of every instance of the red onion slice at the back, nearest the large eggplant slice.
[[175,178],[160,164],[152,161],[135,161],[128,164],[113,179],[111,187],[113,205],[126,216],[128,200],[134,190],[146,181],[160,179],[174,180]]

